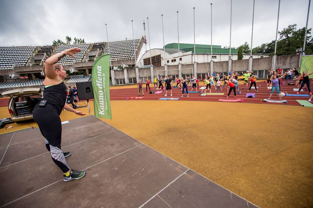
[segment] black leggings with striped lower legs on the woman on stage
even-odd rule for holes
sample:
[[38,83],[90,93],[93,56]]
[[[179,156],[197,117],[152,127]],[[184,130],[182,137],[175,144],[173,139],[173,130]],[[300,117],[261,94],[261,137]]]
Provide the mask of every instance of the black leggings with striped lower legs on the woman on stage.
[[46,138],[46,148],[51,154],[53,162],[65,173],[69,166],[61,150],[62,124],[57,110],[50,104],[45,107],[36,106],[33,118],[38,123],[41,134]]

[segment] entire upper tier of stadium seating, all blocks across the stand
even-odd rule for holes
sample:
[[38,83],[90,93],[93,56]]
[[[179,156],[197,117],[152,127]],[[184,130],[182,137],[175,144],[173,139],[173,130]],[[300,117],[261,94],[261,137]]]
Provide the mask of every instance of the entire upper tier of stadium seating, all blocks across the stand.
[[[138,48],[141,39],[135,39],[135,47]],[[133,59],[134,58],[134,41],[114,41],[109,42],[110,46],[110,57],[111,60],[123,60],[123,59]],[[87,50],[90,47],[90,43],[82,44],[64,44],[58,45],[55,53],[59,53],[63,50],[78,47],[81,48],[81,52],[75,54],[76,58],[66,56],[59,64],[71,65],[73,61],[82,61]],[[106,42],[92,43],[91,49],[99,49],[100,53],[108,53]],[[0,70],[1,69],[13,69],[13,66],[24,66],[28,63],[28,60],[35,52],[35,46],[0,46]],[[53,54],[54,46],[39,46],[39,50],[35,54],[46,53],[46,57]],[[138,58],[138,57],[137,57]]]

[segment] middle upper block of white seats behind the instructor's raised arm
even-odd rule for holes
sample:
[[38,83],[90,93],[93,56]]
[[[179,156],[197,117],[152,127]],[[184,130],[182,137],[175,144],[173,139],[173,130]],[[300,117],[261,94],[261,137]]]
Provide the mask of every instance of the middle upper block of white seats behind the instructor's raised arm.
[[71,56],[65,56],[63,59],[61,59],[58,62],[58,64],[62,64],[62,65],[72,65],[73,61],[77,62],[77,61],[83,60],[85,53],[86,53],[87,49],[89,48],[89,46],[90,46],[90,43],[59,45],[54,54],[57,54],[59,52],[67,50],[69,48],[75,48],[75,47],[80,48],[81,51],[79,53],[75,54],[76,58],[73,58]]

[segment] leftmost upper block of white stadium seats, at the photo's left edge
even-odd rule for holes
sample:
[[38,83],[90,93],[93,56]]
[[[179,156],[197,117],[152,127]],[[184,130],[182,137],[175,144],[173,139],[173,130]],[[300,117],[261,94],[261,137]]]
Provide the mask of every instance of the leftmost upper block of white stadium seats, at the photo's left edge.
[[14,66],[24,66],[35,51],[35,46],[0,47],[0,69],[13,69]]

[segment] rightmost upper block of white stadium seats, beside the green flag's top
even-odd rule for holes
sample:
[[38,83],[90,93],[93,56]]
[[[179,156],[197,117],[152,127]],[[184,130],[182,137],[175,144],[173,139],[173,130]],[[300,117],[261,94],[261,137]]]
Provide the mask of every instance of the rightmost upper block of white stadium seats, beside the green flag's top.
[[[136,48],[138,48],[140,41],[141,39],[135,39]],[[108,45],[110,47],[111,60],[123,60],[135,58],[133,40],[109,42]],[[109,53],[108,46],[106,47],[105,53]]]

